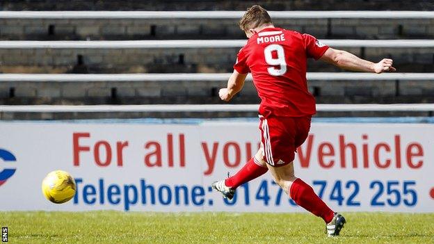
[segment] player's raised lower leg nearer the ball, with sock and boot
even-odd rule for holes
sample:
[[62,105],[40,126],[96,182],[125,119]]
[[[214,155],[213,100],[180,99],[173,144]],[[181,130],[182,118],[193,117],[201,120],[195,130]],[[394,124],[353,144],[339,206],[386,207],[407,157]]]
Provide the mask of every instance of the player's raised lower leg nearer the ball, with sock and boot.
[[266,163],[262,157],[262,151],[259,150],[257,154],[251,158],[243,168],[241,168],[241,170],[234,174],[234,176],[222,181],[216,181],[211,186],[222,193],[223,197],[231,200],[232,197],[234,197],[236,188],[252,179],[256,179],[268,171]]

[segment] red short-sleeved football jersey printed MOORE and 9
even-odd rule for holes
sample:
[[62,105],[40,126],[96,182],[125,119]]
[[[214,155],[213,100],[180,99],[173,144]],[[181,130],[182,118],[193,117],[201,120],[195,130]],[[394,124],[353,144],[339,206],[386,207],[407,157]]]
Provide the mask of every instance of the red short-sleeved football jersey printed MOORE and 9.
[[252,73],[262,100],[261,115],[314,115],[315,99],[306,81],[307,58],[319,59],[327,49],[312,35],[266,28],[241,48],[234,69],[241,74]]

